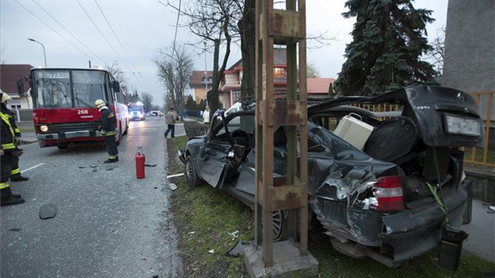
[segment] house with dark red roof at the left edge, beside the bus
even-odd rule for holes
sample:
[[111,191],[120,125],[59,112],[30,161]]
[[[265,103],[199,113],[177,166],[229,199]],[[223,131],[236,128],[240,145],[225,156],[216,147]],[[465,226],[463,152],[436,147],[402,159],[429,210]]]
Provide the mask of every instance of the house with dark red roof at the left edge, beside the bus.
[[[33,108],[31,90],[29,88],[29,71],[33,68],[29,64],[1,64],[0,65],[0,89],[12,99],[8,101],[10,109]],[[17,93],[17,81],[23,80],[24,91],[22,95]]]

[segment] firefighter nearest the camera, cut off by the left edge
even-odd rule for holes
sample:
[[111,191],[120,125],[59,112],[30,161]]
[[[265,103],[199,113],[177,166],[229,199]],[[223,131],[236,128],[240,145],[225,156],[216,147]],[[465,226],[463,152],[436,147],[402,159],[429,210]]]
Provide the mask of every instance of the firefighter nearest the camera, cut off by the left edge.
[[[10,96],[6,93],[1,93],[1,150],[0,150],[0,205],[9,206],[24,203],[24,199],[20,194],[12,194],[10,189],[10,174],[12,165],[14,165],[15,157],[22,155],[22,150],[17,148],[17,140],[15,137],[14,127],[10,124],[8,114],[4,112],[4,104]],[[6,108],[6,107],[5,107]]]

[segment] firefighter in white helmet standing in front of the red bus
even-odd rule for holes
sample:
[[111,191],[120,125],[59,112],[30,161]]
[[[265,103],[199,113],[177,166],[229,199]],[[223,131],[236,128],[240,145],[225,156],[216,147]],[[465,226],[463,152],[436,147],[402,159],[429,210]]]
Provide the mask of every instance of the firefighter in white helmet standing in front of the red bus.
[[95,101],[95,106],[101,112],[101,127],[99,132],[105,137],[105,149],[108,152],[108,159],[104,163],[113,163],[119,161],[119,151],[115,142],[115,114],[111,109],[106,107],[105,102],[101,99]]

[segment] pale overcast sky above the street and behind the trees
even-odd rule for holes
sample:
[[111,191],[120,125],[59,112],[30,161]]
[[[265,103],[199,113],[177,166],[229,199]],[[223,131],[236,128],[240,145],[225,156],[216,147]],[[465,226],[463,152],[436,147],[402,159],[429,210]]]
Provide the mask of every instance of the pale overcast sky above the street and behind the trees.
[[[97,2],[125,51],[108,27]],[[100,35],[79,3],[111,46]],[[176,19],[174,11],[157,0],[79,0],[79,3],[77,0],[0,0],[0,60],[6,64],[43,66],[42,47],[28,41],[28,38],[45,45],[49,67],[84,68],[88,67],[90,57],[93,67],[118,60],[120,67],[126,72],[128,83],[137,88],[138,92],[151,92],[156,103],[162,104],[164,88],[156,76],[152,60],[157,49],[170,46],[173,42]],[[342,17],[342,12],[346,11],[344,3],[345,0],[306,1],[307,33],[318,35],[326,32],[327,37],[336,39],[329,46],[307,51],[308,63],[316,66],[320,77],[336,78],[345,61],[343,55],[346,44],[352,39],[349,33],[354,19]],[[433,10],[432,17],[436,21],[428,26],[428,37],[432,41],[437,30],[446,25],[447,0],[416,0],[414,4],[416,7]],[[67,33],[42,8],[85,46]],[[178,43],[189,43],[195,42],[197,38],[186,28],[179,28],[177,40]],[[212,56],[207,55],[209,70]],[[238,46],[234,46],[228,66],[240,58],[241,51]],[[204,70],[204,55],[195,56],[195,61],[196,69]]]

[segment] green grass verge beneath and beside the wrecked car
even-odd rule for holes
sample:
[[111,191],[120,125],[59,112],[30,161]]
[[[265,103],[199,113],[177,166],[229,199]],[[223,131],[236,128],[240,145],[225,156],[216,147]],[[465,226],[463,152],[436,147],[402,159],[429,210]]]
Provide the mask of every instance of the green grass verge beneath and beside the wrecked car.
[[[184,172],[177,160],[177,150],[186,145],[186,137],[168,139],[168,173]],[[247,277],[242,257],[225,253],[236,243],[228,232],[239,230],[240,239],[254,237],[253,214],[247,206],[225,192],[209,185],[189,188],[184,177],[172,180],[178,188],[172,196],[172,212],[179,233],[179,249],[185,277]],[[188,232],[195,232],[188,234]],[[208,250],[214,249],[210,254]],[[495,264],[463,254],[457,272],[438,267],[438,249],[431,250],[393,270],[366,259],[353,259],[333,250],[330,238],[321,232],[310,232],[309,251],[319,262],[320,278],[474,278],[495,272]]]

